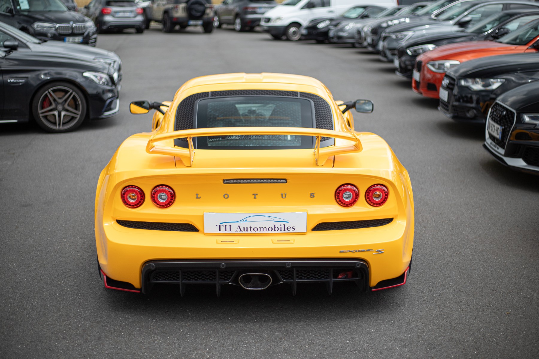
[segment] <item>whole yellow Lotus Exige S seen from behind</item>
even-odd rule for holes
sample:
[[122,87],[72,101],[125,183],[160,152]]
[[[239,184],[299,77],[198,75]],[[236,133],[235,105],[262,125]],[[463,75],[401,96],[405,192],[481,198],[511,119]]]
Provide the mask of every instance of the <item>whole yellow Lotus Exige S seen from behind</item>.
[[155,109],[152,131],[127,138],[95,199],[107,288],[154,284],[262,290],[352,281],[406,283],[413,244],[410,178],[385,141],[355,132],[320,81],[223,74],[186,82]]

